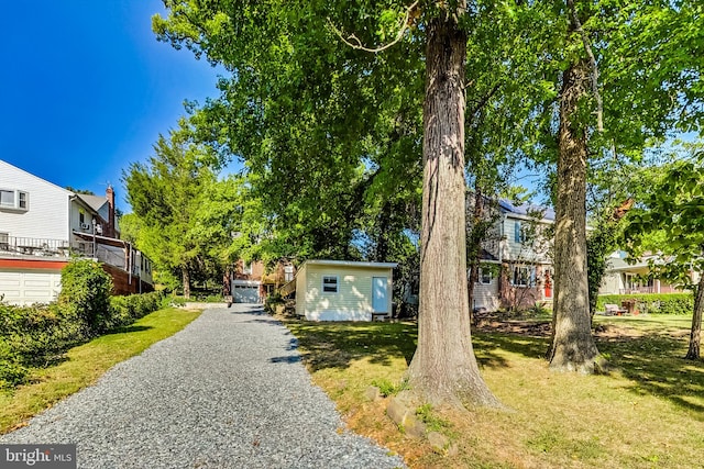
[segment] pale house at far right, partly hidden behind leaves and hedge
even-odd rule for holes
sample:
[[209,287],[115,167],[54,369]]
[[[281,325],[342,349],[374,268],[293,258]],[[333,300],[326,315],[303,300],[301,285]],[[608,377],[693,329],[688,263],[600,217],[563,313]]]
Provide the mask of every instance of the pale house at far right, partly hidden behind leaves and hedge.
[[647,255],[629,263],[622,253],[614,253],[606,261],[606,271],[598,294],[675,293],[682,291],[664,280],[649,278],[650,261],[662,263],[662,258]]

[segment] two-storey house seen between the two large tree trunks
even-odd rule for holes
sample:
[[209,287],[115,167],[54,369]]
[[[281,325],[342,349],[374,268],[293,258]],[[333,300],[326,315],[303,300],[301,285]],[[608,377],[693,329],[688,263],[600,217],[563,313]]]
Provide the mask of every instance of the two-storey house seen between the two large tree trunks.
[[[469,198],[471,199],[471,198]],[[524,309],[549,303],[553,295],[550,257],[554,223],[551,209],[507,200],[491,202],[486,211],[493,227],[482,243],[474,310]],[[468,203],[472,211],[472,202]]]

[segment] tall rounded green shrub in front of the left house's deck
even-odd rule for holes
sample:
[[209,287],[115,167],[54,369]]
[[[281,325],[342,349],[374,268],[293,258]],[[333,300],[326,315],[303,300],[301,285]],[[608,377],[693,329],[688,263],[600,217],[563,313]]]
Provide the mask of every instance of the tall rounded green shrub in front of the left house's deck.
[[92,337],[110,327],[112,279],[100,264],[90,259],[73,259],[62,269],[58,304],[67,317],[76,319],[82,334]]

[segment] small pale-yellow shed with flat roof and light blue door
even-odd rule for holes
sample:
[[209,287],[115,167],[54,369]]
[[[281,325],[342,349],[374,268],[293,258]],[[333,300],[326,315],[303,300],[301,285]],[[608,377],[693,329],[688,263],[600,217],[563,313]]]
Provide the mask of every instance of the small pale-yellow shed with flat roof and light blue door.
[[296,313],[310,321],[372,321],[391,316],[395,263],[307,260],[279,291],[295,293]]

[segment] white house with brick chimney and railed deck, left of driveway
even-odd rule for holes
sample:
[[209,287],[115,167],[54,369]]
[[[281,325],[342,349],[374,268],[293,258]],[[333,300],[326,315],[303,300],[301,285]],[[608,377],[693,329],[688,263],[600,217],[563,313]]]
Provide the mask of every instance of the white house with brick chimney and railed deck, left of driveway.
[[114,191],[87,196],[0,160],[0,297],[50,302],[72,256],[98,259],[118,294],[152,290],[151,261],[120,239]]

